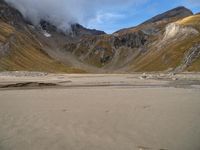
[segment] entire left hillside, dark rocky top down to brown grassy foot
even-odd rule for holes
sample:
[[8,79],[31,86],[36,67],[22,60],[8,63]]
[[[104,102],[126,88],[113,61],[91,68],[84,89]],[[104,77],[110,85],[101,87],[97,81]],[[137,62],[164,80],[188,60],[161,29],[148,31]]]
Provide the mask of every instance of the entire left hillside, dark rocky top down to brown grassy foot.
[[0,3],[0,70],[45,72],[84,72],[64,65],[43,51],[43,45],[31,32],[22,15]]

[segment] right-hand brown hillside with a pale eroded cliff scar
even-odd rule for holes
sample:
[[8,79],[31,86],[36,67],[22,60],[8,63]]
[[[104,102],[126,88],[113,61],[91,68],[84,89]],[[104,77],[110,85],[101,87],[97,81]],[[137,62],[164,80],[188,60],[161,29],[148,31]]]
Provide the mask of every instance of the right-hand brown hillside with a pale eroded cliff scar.
[[199,71],[200,15],[189,16],[166,26],[149,51],[134,60],[134,71]]

